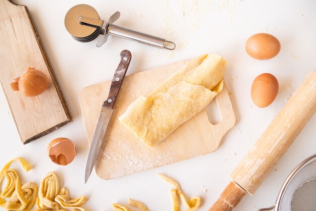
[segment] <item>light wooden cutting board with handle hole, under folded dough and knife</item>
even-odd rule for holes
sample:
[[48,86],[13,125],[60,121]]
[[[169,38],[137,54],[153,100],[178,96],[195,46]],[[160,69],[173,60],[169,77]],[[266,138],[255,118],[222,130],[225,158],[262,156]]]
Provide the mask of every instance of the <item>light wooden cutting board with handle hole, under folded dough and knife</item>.
[[[216,96],[222,116],[219,124],[212,125],[204,109],[154,148],[143,144],[118,120],[128,105],[139,95],[146,96],[156,85],[185,63],[187,61],[126,76],[95,164],[96,173],[100,178],[111,179],[164,166],[213,152],[219,147],[222,137],[236,121],[225,85]],[[89,142],[94,133],[101,104],[108,96],[110,84],[111,81],[106,81],[88,86],[80,93],[80,104]]]

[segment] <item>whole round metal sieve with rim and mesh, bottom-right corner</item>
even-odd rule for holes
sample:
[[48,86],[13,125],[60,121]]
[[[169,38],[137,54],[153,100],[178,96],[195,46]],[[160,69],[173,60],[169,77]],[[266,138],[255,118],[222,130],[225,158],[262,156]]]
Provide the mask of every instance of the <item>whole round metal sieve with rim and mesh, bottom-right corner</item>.
[[285,180],[276,203],[258,211],[316,211],[316,154],[300,163]]

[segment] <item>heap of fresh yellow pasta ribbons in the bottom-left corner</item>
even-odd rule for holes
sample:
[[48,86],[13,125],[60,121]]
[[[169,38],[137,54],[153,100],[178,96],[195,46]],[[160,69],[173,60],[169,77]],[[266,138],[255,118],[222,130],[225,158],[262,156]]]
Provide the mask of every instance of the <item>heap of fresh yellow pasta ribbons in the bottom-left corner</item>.
[[[84,204],[87,199],[84,196],[70,199],[65,188],[59,190],[58,178],[54,172],[50,172],[42,179],[39,190],[33,182],[21,186],[16,170],[9,169],[14,161],[20,162],[26,172],[31,170],[31,165],[22,157],[12,159],[3,167],[0,172],[0,188],[4,178],[7,183],[3,191],[0,189],[0,207],[8,211],[29,211],[36,203],[37,209],[34,211],[68,211],[67,208],[72,208],[72,211],[85,211],[79,206]],[[10,200],[6,201],[5,198],[10,198]],[[63,208],[60,208],[61,206]]]

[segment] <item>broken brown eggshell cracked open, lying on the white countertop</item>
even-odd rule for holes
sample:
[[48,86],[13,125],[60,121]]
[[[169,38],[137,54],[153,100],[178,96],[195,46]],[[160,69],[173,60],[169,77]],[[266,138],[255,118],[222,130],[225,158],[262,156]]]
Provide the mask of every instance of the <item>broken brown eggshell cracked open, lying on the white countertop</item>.
[[75,159],[77,150],[72,140],[56,138],[48,144],[47,154],[55,164],[66,166]]

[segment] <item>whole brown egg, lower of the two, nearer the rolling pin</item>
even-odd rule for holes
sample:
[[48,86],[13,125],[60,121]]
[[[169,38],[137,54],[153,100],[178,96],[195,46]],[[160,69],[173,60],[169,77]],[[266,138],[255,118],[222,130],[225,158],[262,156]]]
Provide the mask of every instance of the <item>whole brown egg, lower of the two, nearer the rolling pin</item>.
[[251,98],[257,107],[265,108],[273,102],[278,91],[279,83],[277,78],[270,73],[264,73],[253,80]]

